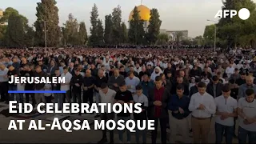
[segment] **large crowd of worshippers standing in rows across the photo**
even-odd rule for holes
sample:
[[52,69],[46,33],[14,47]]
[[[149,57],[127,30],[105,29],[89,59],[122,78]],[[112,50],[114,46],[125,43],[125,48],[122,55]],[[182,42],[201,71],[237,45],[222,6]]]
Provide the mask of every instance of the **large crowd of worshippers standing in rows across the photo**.
[[[243,54],[207,54],[207,50],[3,50],[0,61],[1,101],[58,103],[119,102],[142,103],[142,113],[134,119],[155,120],[151,142],[157,142],[158,122],[162,143],[207,143],[210,123],[215,121],[216,142],[256,142],[256,59]],[[205,52],[206,51],[206,52]],[[209,51],[208,51],[209,52]],[[192,53],[192,55],[190,55]],[[162,54],[162,55],[158,55]],[[175,55],[174,55],[175,54]],[[194,54],[194,55],[193,55]],[[159,57],[161,56],[161,57]],[[163,56],[163,57],[162,57]],[[62,84],[9,84],[10,76],[64,77]],[[65,90],[66,94],[8,94],[8,90]],[[25,97],[24,97],[25,96]],[[25,98],[25,99],[24,99]],[[79,114],[81,115],[81,114]],[[83,115],[83,114],[82,114]],[[125,121],[131,114],[117,114]],[[115,114],[94,114],[113,119]],[[238,119],[238,120],[237,120]],[[235,123],[238,121],[238,136]],[[166,129],[170,127],[167,137]],[[118,139],[125,142],[123,130]],[[136,142],[146,143],[146,130],[136,131]],[[131,141],[126,130],[126,143]],[[107,142],[102,130],[99,143]],[[110,131],[110,143],[114,132]]]

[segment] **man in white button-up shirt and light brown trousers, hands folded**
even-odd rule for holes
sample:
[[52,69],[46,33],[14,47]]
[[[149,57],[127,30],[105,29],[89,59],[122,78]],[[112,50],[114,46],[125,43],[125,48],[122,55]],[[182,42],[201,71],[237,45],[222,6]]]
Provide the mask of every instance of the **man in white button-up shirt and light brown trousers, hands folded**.
[[190,99],[189,110],[192,112],[192,130],[194,143],[208,143],[210,119],[215,114],[216,105],[213,96],[206,93],[206,83],[198,82],[198,93]]

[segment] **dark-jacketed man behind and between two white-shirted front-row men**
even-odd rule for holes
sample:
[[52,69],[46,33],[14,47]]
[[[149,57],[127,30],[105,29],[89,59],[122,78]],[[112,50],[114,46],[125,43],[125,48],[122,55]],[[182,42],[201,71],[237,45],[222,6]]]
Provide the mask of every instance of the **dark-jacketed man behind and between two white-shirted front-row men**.
[[206,87],[206,92],[212,95],[214,98],[222,95],[222,83],[219,82],[218,76],[214,76],[212,82]]

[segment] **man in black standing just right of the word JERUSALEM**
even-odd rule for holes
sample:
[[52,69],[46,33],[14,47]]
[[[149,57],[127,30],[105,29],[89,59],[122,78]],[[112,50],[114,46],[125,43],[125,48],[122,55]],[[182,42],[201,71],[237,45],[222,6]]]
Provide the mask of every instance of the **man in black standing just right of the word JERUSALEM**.
[[[72,87],[71,91],[73,94],[73,102],[76,103],[78,100],[78,104],[81,105],[82,98],[81,98],[81,87],[82,87],[83,78],[80,74],[80,70],[78,67],[74,69],[74,76],[70,80],[70,86]],[[80,110],[81,111],[81,110]],[[79,111],[79,115],[81,115],[81,112]]]

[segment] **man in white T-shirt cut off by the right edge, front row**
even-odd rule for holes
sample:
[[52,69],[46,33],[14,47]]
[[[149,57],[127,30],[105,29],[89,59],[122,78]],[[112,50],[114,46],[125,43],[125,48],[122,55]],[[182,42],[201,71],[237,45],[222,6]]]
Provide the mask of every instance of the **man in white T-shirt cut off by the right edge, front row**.
[[238,100],[238,142],[246,143],[247,136],[249,143],[256,143],[256,100],[254,90],[246,90],[246,98]]

